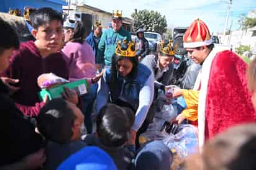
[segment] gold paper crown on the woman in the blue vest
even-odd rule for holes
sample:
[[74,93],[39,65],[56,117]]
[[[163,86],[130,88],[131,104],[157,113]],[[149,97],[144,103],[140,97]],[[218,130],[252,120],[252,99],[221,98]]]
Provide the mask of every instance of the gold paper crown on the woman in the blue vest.
[[117,45],[116,45],[116,55],[119,55],[119,56],[128,56],[128,57],[134,57],[135,54],[136,54],[136,51],[135,51],[135,43],[134,41],[131,41],[129,43],[127,43],[127,40],[124,40],[123,41],[123,45],[127,45],[127,48],[126,50],[122,50],[121,49],[121,41],[119,40],[117,42]]

